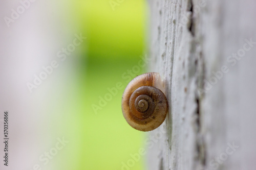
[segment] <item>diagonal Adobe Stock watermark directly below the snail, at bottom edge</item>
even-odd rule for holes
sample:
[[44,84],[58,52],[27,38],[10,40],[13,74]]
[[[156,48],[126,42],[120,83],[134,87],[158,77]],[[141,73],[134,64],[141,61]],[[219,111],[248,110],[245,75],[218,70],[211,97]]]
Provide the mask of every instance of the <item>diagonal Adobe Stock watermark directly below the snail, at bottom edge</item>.
[[163,136],[166,134],[165,126],[162,126],[159,129],[160,131],[157,131],[155,135],[151,135],[144,141],[144,148],[139,148],[138,152],[130,154],[130,159],[121,162],[121,170],[130,170],[136,165],[137,162],[141,160],[142,156],[147,153],[147,149],[153,148],[154,145],[163,138]]

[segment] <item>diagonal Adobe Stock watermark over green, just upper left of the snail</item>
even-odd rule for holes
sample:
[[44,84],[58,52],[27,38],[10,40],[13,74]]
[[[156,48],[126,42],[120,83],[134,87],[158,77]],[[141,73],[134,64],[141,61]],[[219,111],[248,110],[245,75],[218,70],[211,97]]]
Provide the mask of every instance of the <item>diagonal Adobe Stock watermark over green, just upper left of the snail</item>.
[[[133,78],[137,76],[137,74],[141,71],[143,67],[151,60],[147,57],[140,57],[138,64],[133,66],[132,69],[127,69],[123,74],[121,75],[121,78],[126,80],[126,82],[130,82]],[[108,91],[104,95],[99,96],[98,104],[92,104],[92,109],[95,114],[98,114],[99,110],[102,110],[103,107],[105,107],[108,102],[110,102],[119,92],[119,90],[123,90],[124,84],[122,82],[117,82],[114,87],[106,88]]]

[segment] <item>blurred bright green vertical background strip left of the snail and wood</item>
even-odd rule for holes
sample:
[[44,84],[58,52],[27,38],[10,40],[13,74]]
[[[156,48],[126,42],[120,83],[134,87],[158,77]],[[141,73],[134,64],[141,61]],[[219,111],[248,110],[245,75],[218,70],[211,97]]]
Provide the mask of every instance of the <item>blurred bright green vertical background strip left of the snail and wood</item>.
[[[77,8],[81,33],[87,37],[82,47],[79,66],[79,113],[81,121],[81,149],[78,169],[126,169],[130,154],[143,147],[144,133],[131,128],[123,118],[121,97],[127,83],[144,68],[122,78],[128,69],[138,65],[145,52],[146,2],[79,1]],[[108,88],[122,88],[110,96],[101,107]],[[99,106],[99,107],[97,107]],[[95,109],[98,108],[98,109]],[[129,169],[144,169],[144,157]]]

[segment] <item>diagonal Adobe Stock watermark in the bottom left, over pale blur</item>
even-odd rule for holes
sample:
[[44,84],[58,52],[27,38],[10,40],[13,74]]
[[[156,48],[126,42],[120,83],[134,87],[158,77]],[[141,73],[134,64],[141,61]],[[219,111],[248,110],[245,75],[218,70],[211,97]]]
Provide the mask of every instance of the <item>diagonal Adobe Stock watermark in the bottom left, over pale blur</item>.
[[59,153],[60,150],[66,147],[69,143],[64,137],[57,138],[57,142],[55,143],[54,147],[50,148],[49,151],[44,152],[38,158],[38,163],[34,164],[28,170],[42,170],[43,166],[46,166],[56,155]]

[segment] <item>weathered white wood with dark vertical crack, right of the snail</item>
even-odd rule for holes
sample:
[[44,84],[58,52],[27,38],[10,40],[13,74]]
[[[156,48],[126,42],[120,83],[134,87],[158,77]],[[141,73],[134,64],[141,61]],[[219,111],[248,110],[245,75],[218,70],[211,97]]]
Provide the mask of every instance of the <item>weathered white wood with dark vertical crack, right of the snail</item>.
[[148,169],[255,169],[256,2],[148,3],[149,71],[165,78],[170,106]]

